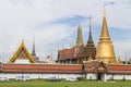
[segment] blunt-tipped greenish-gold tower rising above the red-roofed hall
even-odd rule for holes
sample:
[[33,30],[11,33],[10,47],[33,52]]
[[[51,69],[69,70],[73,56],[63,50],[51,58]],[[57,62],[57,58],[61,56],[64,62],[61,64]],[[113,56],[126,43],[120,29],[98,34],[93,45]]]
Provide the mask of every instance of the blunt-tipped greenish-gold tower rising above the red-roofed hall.
[[76,46],[80,47],[83,45],[83,38],[82,38],[82,27],[81,25],[79,24],[79,27],[78,27],[78,38],[76,38]]

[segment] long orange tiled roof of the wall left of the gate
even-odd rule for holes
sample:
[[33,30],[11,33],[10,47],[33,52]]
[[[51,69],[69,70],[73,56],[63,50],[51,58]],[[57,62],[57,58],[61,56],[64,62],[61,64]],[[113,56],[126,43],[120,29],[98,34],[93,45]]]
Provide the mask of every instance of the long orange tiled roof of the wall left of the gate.
[[2,67],[2,72],[81,73],[82,65],[4,64]]

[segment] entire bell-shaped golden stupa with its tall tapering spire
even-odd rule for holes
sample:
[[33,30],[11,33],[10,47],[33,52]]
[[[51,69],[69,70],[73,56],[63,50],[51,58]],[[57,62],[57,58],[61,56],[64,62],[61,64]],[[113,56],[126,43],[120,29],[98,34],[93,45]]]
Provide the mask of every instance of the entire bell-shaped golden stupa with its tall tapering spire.
[[103,62],[106,63],[115,63],[116,61],[114,45],[112,41],[110,40],[107,27],[105,7],[103,14],[102,34],[96,48],[96,60],[102,60]]

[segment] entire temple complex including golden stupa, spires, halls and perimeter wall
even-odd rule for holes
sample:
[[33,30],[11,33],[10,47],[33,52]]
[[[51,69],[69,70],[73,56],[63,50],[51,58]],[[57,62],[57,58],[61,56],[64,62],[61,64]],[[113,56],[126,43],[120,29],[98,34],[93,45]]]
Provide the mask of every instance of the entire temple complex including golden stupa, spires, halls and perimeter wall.
[[122,64],[120,57],[116,59],[104,9],[102,33],[96,48],[93,41],[90,18],[90,34],[85,46],[82,27],[79,25],[75,46],[70,49],[58,50],[56,63],[53,63],[51,54],[47,64],[37,58],[35,40],[33,40],[32,53],[28,52],[24,40],[22,40],[17,51],[10,58],[9,62],[0,62],[0,77],[2,76],[11,79],[15,79],[16,76],[28,76],[38,79],[84,77],[100,82],[127,80],[131,79],[131,65]]

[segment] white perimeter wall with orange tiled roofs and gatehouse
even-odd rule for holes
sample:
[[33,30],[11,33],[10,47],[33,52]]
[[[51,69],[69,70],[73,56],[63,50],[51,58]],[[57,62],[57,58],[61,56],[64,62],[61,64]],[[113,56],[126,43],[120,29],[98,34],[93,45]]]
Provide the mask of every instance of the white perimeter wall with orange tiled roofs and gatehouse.
[[83,77],[95,80],[131,79],[131,65],[107,64],[103,61],[84,61],[83,64],[16,64],[0,63],[0,77],[16,78],[29,76],[34,78]]

